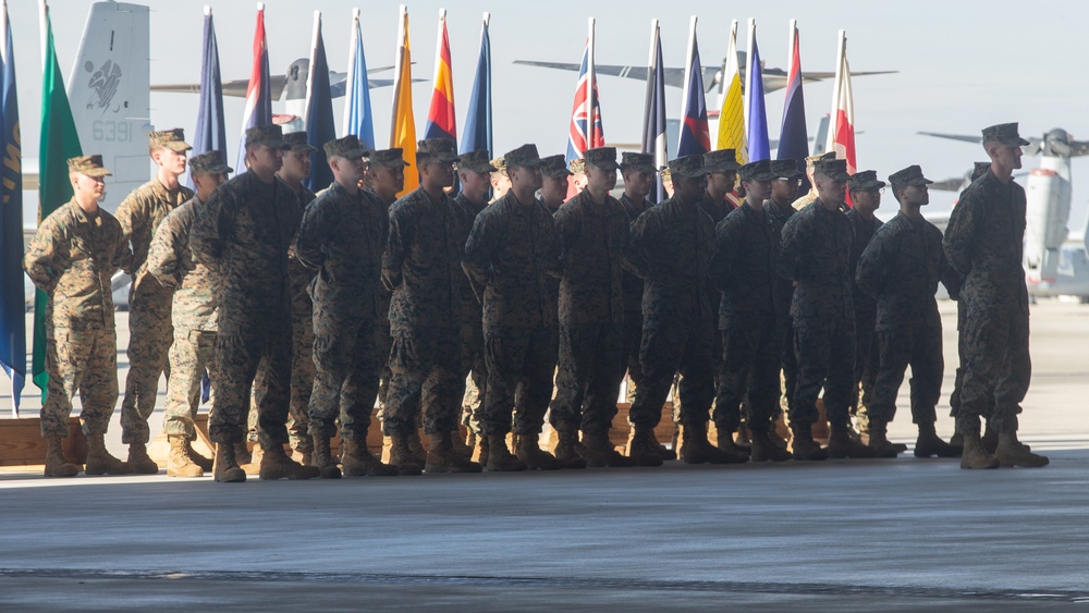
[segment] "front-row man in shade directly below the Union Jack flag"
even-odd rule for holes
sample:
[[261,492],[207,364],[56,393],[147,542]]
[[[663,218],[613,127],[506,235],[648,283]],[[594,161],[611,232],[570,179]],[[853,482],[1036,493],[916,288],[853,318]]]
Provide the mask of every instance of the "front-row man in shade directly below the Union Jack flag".
[[[563,275],[560,370],[549,419],[559,436],[558,458],[566,462],[582,455],[584,466],[633,466],[634,461],[617,453],[609,440],[624,378],[622,262],[627,212],[609,195],[616,186],[616,149],[587,149],[583,160],[586,187],[555,213]],[[582,446],[576,444],[579,430]]]

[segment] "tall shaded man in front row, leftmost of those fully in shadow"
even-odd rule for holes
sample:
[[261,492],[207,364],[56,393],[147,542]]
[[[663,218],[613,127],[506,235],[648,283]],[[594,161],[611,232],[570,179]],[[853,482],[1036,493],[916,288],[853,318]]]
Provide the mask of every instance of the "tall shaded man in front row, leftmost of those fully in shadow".
[[287,248],[301,211],[295,195],[276,177],[285,148],[279,125],[246,131],[249,170],[216,189],[189,233],[198,263],[220,273],[216,397],[208,430],[216,449],[216,479],[244,481],[234,443],[245,437],[249,390],[258,364],[268,377],[257,389],[262,479],[309,479],[318,470],[286,456],[291,387],[291,282]]

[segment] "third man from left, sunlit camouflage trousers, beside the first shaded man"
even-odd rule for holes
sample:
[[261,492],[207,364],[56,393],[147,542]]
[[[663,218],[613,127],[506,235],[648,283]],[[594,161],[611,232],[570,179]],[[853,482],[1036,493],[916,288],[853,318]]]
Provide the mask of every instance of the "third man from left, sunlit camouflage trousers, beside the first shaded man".
[[210,461],[194,453],[191,445],[196,439],[194,419],[200,405],[200,380],[209,369],[211,378],[217,377],[219,281],[215,270],[193,261],[189,231],[197,210],[233,172],[220,151],[195,156],[188,162],[197,194],[162,220],[147,254],[148,273],[173,292],[174,340],[168,356],[171,377],[163,412],[163,431],[170,441],[167,475],[171,477],[200,477],[211,469]]

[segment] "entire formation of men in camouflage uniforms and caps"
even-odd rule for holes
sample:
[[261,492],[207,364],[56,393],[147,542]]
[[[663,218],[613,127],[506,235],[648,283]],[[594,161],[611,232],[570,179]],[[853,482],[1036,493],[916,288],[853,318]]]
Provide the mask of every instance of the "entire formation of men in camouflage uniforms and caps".
[[[161,373],[175,477],[896,457],[906,448],[888,426],[908,366],[917,457],[1044,466],[1017,439],[1030,379],[1025,191],[1012,180],[1024,144],[1017,124],[983,130],[990,162],[944,237],[920,213],[930,181],[918,165],[886,184],[874,171],[848,176],[832,155],[807,159],[812,188],[795,198],[796,161],[742,165],[730,149],[656,169],[650,155],[617,160],[599,147],[568,169],[534,145],[489,160],[435,139],[406,168],[400,149],[346,136],[325,145],[333,182],[315,195],[302,185],[314,150],[305,134],[247,131],[247,168],[228,179],[220,152],[187,159],[172,130],[151,133],[158,172],[117,216],[98,207],[101,157],[73,158],[74,196],[24,257],[50,296],[45,474],[157,473],[147,420]],[[195,192],[179,183],[186,163]],[[397,198],[405,172],[419,187]],[[671,194],[653,204],[659,172]],[[900,211],[882,224],[873,211],[886,185]],[[103,440],[119,396],[118,270],[133,278],[126,461]],[[958,307],[950,442],[934,428],[939,283]],[[610,430],[625,373],[635,391],[621,453]],[[203,379],[213,458],[193,449]],[[463,407],[467,380],[479,400]],[[675,384],[670,449],[656,428]],[[83,466],[61,445],[76,392]],[[376,404],[386,462],[367,448]]]

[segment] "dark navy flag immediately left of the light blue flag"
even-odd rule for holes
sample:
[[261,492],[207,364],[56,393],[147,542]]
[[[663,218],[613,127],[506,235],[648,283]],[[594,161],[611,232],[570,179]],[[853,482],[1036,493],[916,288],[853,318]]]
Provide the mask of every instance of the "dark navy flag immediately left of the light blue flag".
[[314,11],[314,38],[310,45],[310,70],[306,75],[306,142],[317,150],[310,154],[310,176],[303,184],[317,192],[333,182],[333,171],[326,161],[323,145],[337,138],[333,98],[329,90],[329,61],[321,38],[321,11]]

